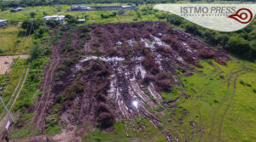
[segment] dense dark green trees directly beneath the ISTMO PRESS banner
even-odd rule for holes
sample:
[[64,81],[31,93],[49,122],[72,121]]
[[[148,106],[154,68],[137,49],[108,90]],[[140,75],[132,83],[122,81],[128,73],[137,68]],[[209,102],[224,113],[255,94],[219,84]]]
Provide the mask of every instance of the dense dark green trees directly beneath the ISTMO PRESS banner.
[[241,57],[250,60],[256,59],[256,19],[247,27],[235,32],[218,32],[208,30],[190,23],[177,15],[170,15],[167,21],[175,26],[180,26],[185,31],[201,37],[212,46],[222,46]]

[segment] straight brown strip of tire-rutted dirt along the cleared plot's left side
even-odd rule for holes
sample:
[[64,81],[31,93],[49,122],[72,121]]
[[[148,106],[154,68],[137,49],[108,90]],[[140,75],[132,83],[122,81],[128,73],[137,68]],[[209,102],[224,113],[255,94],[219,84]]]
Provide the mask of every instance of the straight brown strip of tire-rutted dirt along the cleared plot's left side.
[[42,86],[43,94],[38,99],[38,105],[36,105],[36,116],[34,116],[33,123],[36,127],[41,128],[41,133],[44,131],[44,124],[45,124],[45,116],[47,115],[46,109],[49,106],[50,99],[53,98],[53,95],[50,96],[50,89],[52,88],[52,82],[54,79],[54,72],[57,65],[60,64],[60,54],[59,54],[60,46],[54,47],[53,52],[50,55],[51,60],[49,61],[49,69],[46,70],[44,74],[44,83]]

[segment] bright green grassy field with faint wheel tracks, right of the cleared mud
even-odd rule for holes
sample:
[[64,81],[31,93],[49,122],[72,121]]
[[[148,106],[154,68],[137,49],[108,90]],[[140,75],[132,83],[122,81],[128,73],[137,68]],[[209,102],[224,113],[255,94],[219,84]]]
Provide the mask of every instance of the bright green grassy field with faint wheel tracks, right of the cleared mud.
[[193,121],[203,126],[205,134],[201,139],[209,141],[256,139],[253,127],[256,123],[255,63],[233,59],[227,66],[201,64],[204,68],[198,69],[198,73],[183,77],[190,96],[179,105],[189,111],[184,123]]

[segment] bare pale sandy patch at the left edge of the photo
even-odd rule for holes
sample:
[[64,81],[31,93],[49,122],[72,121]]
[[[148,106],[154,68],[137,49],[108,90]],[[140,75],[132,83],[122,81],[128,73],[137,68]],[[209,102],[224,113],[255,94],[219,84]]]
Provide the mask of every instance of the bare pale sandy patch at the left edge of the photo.
[[14,62],[13,59],[15,58],[27,59],[28,54],[0,56],[0,75],[11,71],[11,66]]

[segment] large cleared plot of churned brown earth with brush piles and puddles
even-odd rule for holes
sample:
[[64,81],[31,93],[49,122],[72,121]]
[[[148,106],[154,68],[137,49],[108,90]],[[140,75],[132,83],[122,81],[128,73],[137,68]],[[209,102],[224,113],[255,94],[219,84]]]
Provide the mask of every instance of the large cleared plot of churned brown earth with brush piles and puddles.
[[[72,130],[86,122],[111,128],[121,119],[141,115],[157,128],[162,122],[148,108],[168,106],[161,94],[183,85],[177,72],[190,76],[193,67],[202,67],[200,60],[221,64],[228,60],[199,38],[165,22],[91,25],[89,29],[73,30],[69,41],[73,50],[63,54],[71,31],[64,32],[60,45],[53,47],[41,85],[44,94],[35,107],[39,128],[45,128],[45,118],[56,103],[61,104],[59,123]],[[90,38],[79,36],[83,32]],[[85,40],[84,48],[79,48]],[[71,59],[73,64],[67,65]]]

